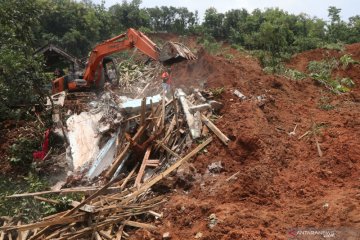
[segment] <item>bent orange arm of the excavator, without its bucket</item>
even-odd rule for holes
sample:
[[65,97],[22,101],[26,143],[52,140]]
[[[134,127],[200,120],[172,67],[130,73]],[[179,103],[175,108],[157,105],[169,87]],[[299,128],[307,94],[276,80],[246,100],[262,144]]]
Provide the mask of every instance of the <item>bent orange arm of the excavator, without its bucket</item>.
[[139,49],[153,60],[159,60],[160,51],[156,44],[153,43],[143,33],[136,31],[133,28],[129,28],[127,33],[109,39],[97,45],[92,50],[88,65],[85,70],[84,80],[86,80],[88,84],[94,82],[95,73],[100,62],[105,56],[123,50],[132,49],[134,47]]

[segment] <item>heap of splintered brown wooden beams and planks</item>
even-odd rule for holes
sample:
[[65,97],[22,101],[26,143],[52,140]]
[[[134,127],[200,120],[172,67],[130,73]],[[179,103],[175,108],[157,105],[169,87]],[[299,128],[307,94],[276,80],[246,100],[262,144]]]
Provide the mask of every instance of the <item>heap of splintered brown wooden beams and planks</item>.
[[[196,108],[192,114],[188,108],[195,102],[187,100],[183,91],[178,93],[179,99],[168,101],[164,97],[157,106],[146,107],[143,100],[140,114],[124,119],[118,155],[103,173],[102,186],[9,196],[55,205],[59,201],[52,200],[48,194],[81,192],[85,198],[72,201],[68,210],[38,222],[25,224],[18,222],[18,218],[0,220],[0,238],[126,239],[131,228],[156,231],[157,226],[150,221],[162,217],[162,213],[153,210],[165,202],[165,196],[151,188],[211,143],[212,137],[205,139],[201,135],[203,128],[208,127],[224,144],[229,141],[205,113],[200,113],[209,111],[208,107]],[[202,143],[192,148],[194,137],[202,138]]]

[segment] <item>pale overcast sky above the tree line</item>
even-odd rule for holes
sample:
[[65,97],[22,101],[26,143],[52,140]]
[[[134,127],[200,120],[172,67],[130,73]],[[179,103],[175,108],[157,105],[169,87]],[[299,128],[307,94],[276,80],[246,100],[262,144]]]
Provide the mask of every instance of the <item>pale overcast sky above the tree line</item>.
[[[93,2],[100,3],[101,0],[93,0]],[[105,6],[110,7],[121,2],[121,0],[105,0]],[[279,7],[289,13],[307,13],[312,17],[328,20],[328,7],[336,6],[342,9],[341,17],[344,20],[360,15],[360,0],[142,0],[141,6],[187,7],[191,11],[198,10],[201,18],[209,7],[215,7],[219,12],[239,8],[245,8],[251,12],[255,8],[263,10],[269,7]]]

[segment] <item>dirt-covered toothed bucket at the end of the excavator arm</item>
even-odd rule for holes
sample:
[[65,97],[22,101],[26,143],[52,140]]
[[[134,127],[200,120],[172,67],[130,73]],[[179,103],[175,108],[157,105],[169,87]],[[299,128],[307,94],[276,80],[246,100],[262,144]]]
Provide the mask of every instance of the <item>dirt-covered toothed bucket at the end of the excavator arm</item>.
[[178,62],[182,60],[194,60],[196,56],[184,44],[178,42],[166,42],[160,51],[160,62]]

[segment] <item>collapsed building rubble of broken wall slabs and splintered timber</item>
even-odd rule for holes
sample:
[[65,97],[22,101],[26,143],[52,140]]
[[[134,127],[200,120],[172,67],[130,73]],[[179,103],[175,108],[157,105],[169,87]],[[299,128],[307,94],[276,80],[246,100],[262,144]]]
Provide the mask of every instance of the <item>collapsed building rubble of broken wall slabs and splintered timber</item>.
[[[131,90],[130,97],[159,92],[148,84],[145,87],[147,93]],[[69,142],[67,156],[72,174],[88,179],[88,185],[93,186],[10,196],[53,202],[39,195],[80,192],[85,198],[73,202],[70,210],[35,223],[17,224],[17,219],[5,219],[0,227],[2,236],[9,239],[122,239],[128,235],[129,226],[156,230],[150,221],[161,214],[151,209],[166,200],[151,187],[204,149],[212,141],[212,137],[207,136],[209,130],[225,145],[229,141],[209,120],[212,104],[199,90],[194,92],[198,97],[187,96],[182,89],[175,92],[171,98],[163,93],[131,99],[107,89],[82,106],[79,114],[60,109],[68,113],[63,136]],[[62,115],[56,114],[58,118]],[[202,139],[202,143],[194,147],[193,139]]]

